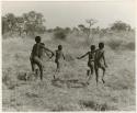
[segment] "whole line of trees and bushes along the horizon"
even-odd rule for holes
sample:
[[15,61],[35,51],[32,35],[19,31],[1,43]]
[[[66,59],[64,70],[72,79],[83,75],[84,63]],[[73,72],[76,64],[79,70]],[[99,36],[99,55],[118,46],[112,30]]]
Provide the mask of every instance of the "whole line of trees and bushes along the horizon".
[[2,16],[2,34],[18,33],[21,36],[22,34],[34,35],[35,33],[44,34],[45,32],[48,32],[54,33],[55,36],[65,38],[66,35],[69,33],[82,32],[87,35],[87,38],[89,39],[91,34],[105,33],[109,30],[132,31],[130,25],[122,21],[114,22],[110,27],[100,29],[100,26],[93,27],[93,25],[98,23],[98,20],[89,19],[85,20],[87,24],[79,24],[77,27],[70,29],[56,26],[55,29],[48,30],[46,30],[45,22],[46,20],[44,19],[44,15],[35,11],[23,13],[21,16],[15,16],[13,13],[8,13]]

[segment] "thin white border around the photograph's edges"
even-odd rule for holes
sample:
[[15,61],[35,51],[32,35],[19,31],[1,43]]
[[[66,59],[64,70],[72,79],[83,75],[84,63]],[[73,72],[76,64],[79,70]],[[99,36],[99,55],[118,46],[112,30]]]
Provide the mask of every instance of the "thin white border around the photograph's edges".
[[[128,1],[136,1],[136,0],[0,0],[0,8],[1,8],[1,1],[71,1],[71,2],[78,2],[78,1],[83,1],[83,2],[87,2],[87,1],[103,1],[103,2],[128,2]],[[136,10],[137,10],[137,3],[136,3]],[[1,15],[1,10],[0,10],[0,15]],[[137,19],[137,11],[136,11],[136,19]],[[0,26],[1,26],[1,18],[0,18]],[[137,27],[137,23],[136,23],[136,27]],[[136,29],[136,33],[137,33],[137,29]],[[0,27],[0,34],[1,34],[1,27]],[[136,35],[136,44],[137,44],[137,35]],[[2,35],[0,35],[0,112],[2,112]],[[137,56],[137,46],[136,46],[136,56]],[[137,64],[137,60],[136,60],[136,64]],[[135,64],[135,65],[136,65]],[[135,66],[135,70],[136,70],[136,66]],[[137,71],[136,71],[136,75],[137,75]],[[137,76],[136,76],[136,80],[137,80]],[[137,87],[137,82],[136,82],[136,87]],[[137,90],[136,90],[136,102],[137,102]],[[136,105],[136,110],[137,110],[137,105]],[[99,112],[94,112],[94,111],[78,111],[78,112],[75,112],[75,113],[99,113]],[[10,112],[12,113],[12,112]],[[13,112],[15,113],[15,112]],[[25,113],[25,112],[21,112],[21,113]],[[38,112],[35,112],[35,113],[38,113]],[[46,113],[46,112],[45,112]],[[48,113],[48,112],[47,112]],[[50,112],[50,113],[57,113],[57,112]],[[68,112],[64,112],[64,113],[68,113]],[[132,111],[132,112],[126,112],[126,111],[111,111],[111,112],[106,112],[106,113],[136,113],[135,111]]]

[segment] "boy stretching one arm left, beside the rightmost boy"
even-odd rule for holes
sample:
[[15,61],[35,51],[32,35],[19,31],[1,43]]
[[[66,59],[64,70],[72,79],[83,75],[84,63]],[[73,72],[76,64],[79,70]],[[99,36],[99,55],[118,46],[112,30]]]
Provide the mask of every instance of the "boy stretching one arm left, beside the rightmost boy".
[[[90,70],[88,69],[87,70],[87,76],[90,76],[89,77],[89,80],[91,79],[91,75],[93,75],[93,69],[94,69],[94,54],[95,54],[95,46],[94,45],[91,45],[91,50],[85,53],[83,56],[81,57],[78,57],[78,59],[81,59],[83,57],[85,57],[87,55],[89,56],[89,60],[88,60],[88,67],[90,68]],[[90,75],[91,72],[91,75]],[[89,80],[88,80],[88,84],[89,84]]]

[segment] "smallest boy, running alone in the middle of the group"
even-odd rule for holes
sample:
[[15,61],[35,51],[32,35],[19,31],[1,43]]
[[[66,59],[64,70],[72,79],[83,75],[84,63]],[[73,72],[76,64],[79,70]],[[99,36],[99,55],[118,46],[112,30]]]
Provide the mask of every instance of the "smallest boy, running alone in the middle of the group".
[[[58,49],[55,52],[55,63],[57,65],[57,69],[56,69],[56,72],[60,72],[60,67],[61,67],[61,61],[62,59],[65,60],[65,55],[62,53],[62,46],[61,45],[58,45]],[[55,76],[54,76],[54,79],[55,79]]]

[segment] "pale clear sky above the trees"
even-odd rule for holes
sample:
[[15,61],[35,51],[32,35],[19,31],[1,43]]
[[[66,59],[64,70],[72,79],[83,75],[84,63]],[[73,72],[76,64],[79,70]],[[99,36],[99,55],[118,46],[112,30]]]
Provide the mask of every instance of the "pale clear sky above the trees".
[[107,27],[115,21],[123,21],[135,27],[135,0],[122,1],[4,1],[2,15],[22,15],[28,11],[43,13],[47,29],[73,27],[95,19],[94,26]]

